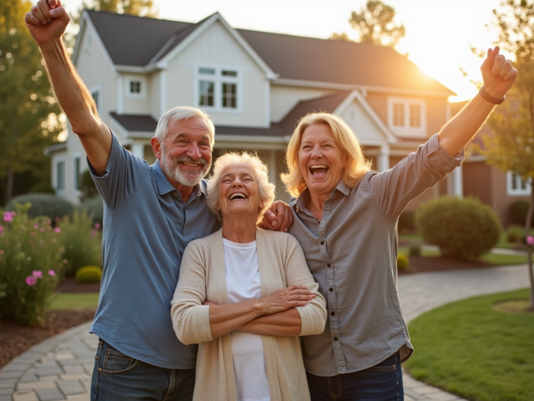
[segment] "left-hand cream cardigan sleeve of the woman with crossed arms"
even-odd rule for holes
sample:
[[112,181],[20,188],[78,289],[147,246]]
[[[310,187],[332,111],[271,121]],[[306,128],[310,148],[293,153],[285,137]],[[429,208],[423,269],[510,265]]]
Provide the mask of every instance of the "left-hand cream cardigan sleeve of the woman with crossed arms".
[[206,269],[201,250],[190,243],[181,261],[180,277],[171,301],[170,316],[176,336],[185,345],[211,341],[209,306],[206,299]]

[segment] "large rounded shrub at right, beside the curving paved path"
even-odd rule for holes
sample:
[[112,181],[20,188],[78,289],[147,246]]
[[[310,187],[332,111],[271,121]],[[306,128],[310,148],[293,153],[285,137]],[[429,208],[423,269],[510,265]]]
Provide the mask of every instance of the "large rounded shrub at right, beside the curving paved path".
[[451,258],[480,257],[496,245],[501,232],[494,210],[474,198],[444,196],[423,203],[415,223],[426,243]]

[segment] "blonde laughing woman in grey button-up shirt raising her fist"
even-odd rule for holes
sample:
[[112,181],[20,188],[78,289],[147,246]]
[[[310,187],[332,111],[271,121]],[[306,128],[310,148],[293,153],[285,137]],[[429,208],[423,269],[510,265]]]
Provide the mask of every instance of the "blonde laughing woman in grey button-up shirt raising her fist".
[[309,114],[293,132],[282,175],[297,198],[289,233],[328,309],[325,331],[302,338],[312,400],[403,400],[401,361],[413,347],[396,286],[397,221],[412,199],[460,165],[462,149],[517,74],[498,48],[489,49],[481,70],[480,95],[387,171],[370,171],[353,130],[337,116]]

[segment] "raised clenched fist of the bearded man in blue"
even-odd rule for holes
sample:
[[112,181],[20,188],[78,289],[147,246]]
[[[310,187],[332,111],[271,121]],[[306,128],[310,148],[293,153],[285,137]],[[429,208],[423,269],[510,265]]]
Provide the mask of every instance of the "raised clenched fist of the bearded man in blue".
[[25,22],[35,42],[42,46],[63,36],[70,17],[60,0],[39,0],[26,13]]

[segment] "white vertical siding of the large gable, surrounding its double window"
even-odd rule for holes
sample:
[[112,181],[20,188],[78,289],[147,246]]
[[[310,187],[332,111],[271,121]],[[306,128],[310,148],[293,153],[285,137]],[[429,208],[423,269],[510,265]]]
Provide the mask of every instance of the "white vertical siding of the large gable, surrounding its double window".
[[[205,108],[216,125],[266,127],[266,75],[220,22],[215,22],[183,49],[168,66],[166,109],[177,106],[199,107],[196,71],[200,66],[237,70],[238,109]],[[202,107],[201,107],[202,108]]]

